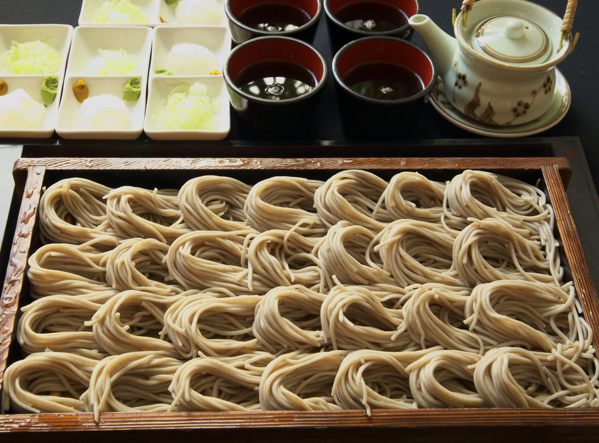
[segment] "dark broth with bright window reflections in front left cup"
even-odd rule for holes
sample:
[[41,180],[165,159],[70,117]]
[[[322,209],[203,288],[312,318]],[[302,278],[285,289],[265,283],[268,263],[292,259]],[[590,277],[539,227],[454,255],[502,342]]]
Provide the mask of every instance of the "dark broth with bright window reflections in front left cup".
[[316,88],[316,77],[302,65],[285,60],[267,60],[243,68],[235,85],[252,97],[288,100]]

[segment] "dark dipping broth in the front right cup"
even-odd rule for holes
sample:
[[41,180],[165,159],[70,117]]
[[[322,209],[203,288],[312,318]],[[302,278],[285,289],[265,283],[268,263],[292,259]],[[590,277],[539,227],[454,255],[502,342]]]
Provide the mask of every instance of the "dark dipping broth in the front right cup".
[[403,65],[389,62],[353,67],[347,71],[343,81],[358,94],[378,100],[401,100],[424,89],[418,74]]

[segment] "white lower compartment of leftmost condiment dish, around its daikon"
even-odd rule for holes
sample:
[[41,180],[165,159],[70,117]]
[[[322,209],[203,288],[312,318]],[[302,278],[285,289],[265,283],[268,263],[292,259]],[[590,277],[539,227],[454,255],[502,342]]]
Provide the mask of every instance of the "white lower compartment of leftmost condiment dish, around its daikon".
[[[52,75],[52,74],[50,74]],[[0,76],[0,80],[5,81],[8,85],[8,94],[17,89],[23,89],[29,96],[40,104],[44,104],[44,100],[41,98],[40,88],[44,81],[44,75],[41,74],[29,74],[24,76]],[[0,129],[0,138],[8,137],[19,137],[19,138],[49,138],[54,134],[56,126],[56,118],[58,116],[58,109],[60,103],[60,92],[62,91],[62,76],[56,76],[58,80],[58,92],[56,98],[52,103],[46,103],[46,122],[40,129]]]

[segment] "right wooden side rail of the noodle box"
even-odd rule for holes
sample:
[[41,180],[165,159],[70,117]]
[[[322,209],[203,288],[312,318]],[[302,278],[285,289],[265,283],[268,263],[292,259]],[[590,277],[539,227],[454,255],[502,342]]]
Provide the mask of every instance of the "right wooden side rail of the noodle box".
[[596,342],[599,337],[599,300],[570,212],[568,197],[565,194],[564,186],[562,186],[557,165],[543,165],[541,169],[549,192],[550,203],[555,211],[562,245],[570,264],[574,287],[585,313],[585,320],[591,327],[593,337],[595,337],[594,342]]

